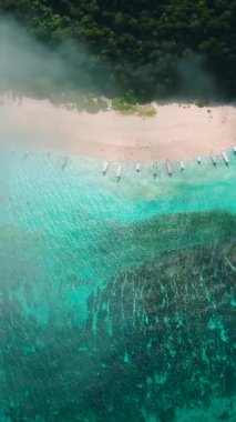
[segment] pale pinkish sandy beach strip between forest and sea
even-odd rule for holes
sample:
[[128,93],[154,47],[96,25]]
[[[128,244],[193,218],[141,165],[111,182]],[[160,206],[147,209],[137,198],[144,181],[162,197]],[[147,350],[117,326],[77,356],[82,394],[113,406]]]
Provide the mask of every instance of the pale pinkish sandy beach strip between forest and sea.
[[48,100],[0,99],[2,141],[107,161],[183,160],[236,144],[236,107],[155,103],[156,115],[66,110]]

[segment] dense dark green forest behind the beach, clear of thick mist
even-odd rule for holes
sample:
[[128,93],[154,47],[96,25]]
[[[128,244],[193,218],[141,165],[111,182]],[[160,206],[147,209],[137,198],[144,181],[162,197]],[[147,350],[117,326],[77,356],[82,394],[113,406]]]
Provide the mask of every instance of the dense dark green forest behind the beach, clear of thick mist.
[[236,96],[236,0],[0,0],[74,86],[141,100]]

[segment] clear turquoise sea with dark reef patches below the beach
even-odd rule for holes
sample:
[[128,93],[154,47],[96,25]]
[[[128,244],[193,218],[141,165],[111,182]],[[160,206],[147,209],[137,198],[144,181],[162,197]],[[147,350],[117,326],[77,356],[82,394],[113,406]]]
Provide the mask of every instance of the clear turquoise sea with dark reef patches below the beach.
[[236,155],[1,158],[0,420],[233,421]]

